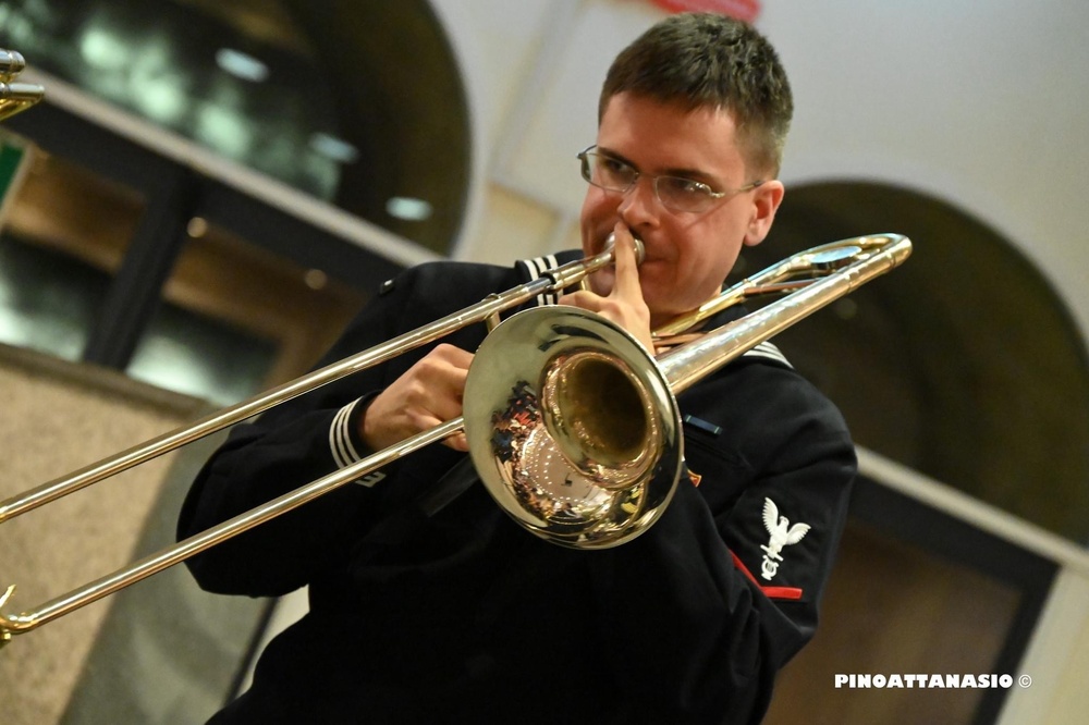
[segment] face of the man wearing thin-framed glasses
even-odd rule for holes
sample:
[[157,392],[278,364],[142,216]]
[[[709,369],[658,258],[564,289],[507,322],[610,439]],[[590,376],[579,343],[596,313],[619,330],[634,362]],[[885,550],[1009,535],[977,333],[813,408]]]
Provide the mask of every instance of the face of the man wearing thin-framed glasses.
[[[596,150],[631,164],[641,175],[625,193],[587,186],[580,217],[583,250],[600,251],[617,221],[643,239],[647,255],[639,283],[656,325],[718,294],[742,245],[763,239],[782,200],[778,181],[733,194],[767,180],[747,175],[754,172],[746,169],[726,111],[687,112],[619,94],[605,108]],[[660,174],[690,177],[729,194],[701,213],[670,211],[654,195],[651,180]],[[598,294],[608,294],[612,284],[611,269],[590,279]]]

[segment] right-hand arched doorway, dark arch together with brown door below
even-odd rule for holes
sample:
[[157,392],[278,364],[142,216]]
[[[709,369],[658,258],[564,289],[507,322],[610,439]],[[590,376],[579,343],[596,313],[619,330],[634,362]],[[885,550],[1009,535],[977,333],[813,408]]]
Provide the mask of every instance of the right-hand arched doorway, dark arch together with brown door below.
[[[792,187],[744,274],[866,233],[909,236],[907,262],[776,339],[840,406],[857,443],[1084,543],[1089,368],[1043,277],[943,200],[861,182]],[[837,673],[1017,672],[1055,564],[864,471],[813,642],[769,723],[994,722],[1003,689],[841,690]]]

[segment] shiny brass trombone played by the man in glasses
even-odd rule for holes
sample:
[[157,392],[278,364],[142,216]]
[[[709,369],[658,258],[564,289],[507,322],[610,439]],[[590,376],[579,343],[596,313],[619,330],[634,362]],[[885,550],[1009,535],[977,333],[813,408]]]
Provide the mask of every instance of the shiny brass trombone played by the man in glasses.
[[[0,502],[2,524],[454,330],[477,322],[489,325],[469,368],[462,417],[36,610],[4,614],[15,589],[11,586],[0,595],[0,647],[13,635],[112,594],[460,431],[465,432],[469,455],[489,493],[527,530],[578,549],[629,541],[658,519],[681,477],[683,435],[675,396],[802,318],[897,267],[910,253],[910,241],[898,234],[853,237],[799,253],[725,290],[678,325],[656,331],[657,342],[669,347],[657,358],[623,329],[573,307],[531,308],[499,322],[502,311],[540,294],[559,293],[611,265],[613,250],[607,248]],[[767,295],[782,297],[713,331],[681,334],[725,307]]]

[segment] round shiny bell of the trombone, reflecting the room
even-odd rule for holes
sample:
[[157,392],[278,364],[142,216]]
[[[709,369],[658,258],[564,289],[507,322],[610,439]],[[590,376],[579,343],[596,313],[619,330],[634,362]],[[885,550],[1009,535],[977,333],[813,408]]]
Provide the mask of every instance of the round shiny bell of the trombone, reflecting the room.
[[464,395],[469,454],[524,528],[603,549],[665,509],[681,475],[681,414],[632,335],[575,307],[519,312],[485,339]]

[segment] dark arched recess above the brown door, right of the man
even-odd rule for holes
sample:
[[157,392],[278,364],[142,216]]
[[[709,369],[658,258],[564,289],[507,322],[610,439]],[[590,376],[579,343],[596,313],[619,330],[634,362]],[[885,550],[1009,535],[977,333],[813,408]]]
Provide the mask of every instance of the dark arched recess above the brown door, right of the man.
[[779,339],[856,441],[1077,542],[1089,540],[1089,365],[1074,320],[1007,239],[918,192],[791,187],[745,270],[896,232],[911,258]]

